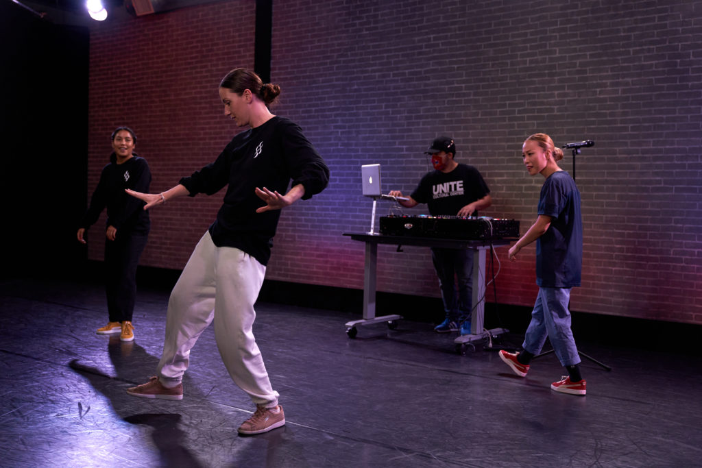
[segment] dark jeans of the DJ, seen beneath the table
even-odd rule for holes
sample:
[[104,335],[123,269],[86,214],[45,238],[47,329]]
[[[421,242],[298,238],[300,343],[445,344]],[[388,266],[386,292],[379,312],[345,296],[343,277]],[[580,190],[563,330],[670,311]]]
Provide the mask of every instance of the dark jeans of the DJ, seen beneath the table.
[[[472,311],[473,253],[468,249],[432,248],[434,269],[439,277],[446,318],[470,319]],[[458,280],[458,290],[456,290]]]

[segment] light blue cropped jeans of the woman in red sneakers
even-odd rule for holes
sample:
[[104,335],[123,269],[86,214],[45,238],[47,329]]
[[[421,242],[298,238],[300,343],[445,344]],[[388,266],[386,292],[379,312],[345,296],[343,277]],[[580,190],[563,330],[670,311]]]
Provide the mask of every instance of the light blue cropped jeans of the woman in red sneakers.
[[562,366],[573,366],[580,362],[571,332],[571,314],[568,311],[570,288],[539,288],[531,322],[524,335],[525,351],[541,353],[546,337]]

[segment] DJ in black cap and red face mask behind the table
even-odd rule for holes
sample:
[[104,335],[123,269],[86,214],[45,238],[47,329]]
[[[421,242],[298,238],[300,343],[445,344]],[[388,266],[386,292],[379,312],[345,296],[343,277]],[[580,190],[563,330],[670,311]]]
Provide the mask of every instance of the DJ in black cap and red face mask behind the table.
[[[432,216],[476,216],[477,210],[492,204],[490,189],[482,175],[473,166],[457,163],[456,144],[451,138],[439,137],[426,151],[432,156],[435,171],[424,175],[409,200],[398,200],[402,206],[412,208],[427,203]],[[390,196],[403,196],[399,190]],[[446,319],[434,328],[439,333],[461,330],[470,334],[472,312],[473,255],[467,249],[432,248],[432,260],[441,288]],[[458,295],[456,295],[456,278]]]

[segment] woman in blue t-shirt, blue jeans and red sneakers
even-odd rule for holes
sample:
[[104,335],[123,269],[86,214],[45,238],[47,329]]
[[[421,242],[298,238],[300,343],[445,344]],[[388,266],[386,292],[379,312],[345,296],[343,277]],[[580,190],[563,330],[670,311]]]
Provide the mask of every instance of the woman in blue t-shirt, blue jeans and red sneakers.
[[583,264],[583,224],[580,192],[571,176],[559,168],[561,149],[545,133],[534,133],[522,145],[522,159],[529,175],[545,178],[538,201],[538,218],[515,245],[510,260],[524,246],[536,241],[536,283],[539,286],[531,322],[524,335],[524,350],[519,354],[500,352],[500,358],[512,371],[524,377],[529,362],[541,352],[546,337],[568,372],[551,389],[573,395],[585,394],[585,380],[580,371],[580,356],[571,332],[568,310],[571,288],[580,286]]

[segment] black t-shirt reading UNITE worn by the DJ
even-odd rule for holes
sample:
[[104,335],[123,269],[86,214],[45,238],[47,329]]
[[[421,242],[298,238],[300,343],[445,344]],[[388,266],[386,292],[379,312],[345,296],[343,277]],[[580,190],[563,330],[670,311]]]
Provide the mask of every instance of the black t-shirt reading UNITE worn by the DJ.
[[449,173],[432,171],[424,175],[411,197],[419,203],[427,203],[432,216],[456,216],[468,203],[489,193],[490,189],[478,170],[459,163]]

